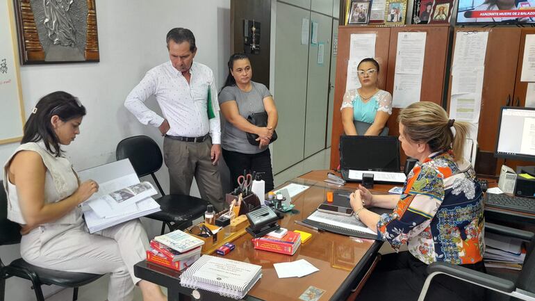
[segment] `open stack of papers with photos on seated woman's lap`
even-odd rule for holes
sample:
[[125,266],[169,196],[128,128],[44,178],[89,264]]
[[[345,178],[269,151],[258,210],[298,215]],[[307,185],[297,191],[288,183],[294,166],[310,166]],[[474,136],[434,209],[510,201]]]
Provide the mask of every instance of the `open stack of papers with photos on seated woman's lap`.
[[90,233],[160,211],[151,197],[156,189],[149,182],[140,183],[128,159],[82,170],[79,177],[99,184],[99,191],[82,204]]

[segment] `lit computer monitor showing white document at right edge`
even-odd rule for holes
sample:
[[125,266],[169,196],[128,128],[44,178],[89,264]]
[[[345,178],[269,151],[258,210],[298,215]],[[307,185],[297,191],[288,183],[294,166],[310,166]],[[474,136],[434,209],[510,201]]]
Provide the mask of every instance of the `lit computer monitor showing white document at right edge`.
[[502,107],[494,156],[535,161],[535,108]]

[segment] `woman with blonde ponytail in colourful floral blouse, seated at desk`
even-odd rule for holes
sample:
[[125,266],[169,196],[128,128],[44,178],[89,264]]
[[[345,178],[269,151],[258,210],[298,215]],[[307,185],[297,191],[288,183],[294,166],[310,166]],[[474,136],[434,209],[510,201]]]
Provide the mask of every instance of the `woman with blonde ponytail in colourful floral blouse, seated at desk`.
[[[435,261],[484,270],[482,190],[462,154],[469,124],[448,120],[441,106],[427,101],[404,108],[398,122],[403,151],[418,159],[401,197],[372,195],[360,187],[351,205],[380,239],[396,251],[406,244],[409,251],[384,256],[357,300],[417,300],[427,265]],[[364,206],[393,212],[377,215]],[[440,275],[426,300],[483,300],[483,294]]]

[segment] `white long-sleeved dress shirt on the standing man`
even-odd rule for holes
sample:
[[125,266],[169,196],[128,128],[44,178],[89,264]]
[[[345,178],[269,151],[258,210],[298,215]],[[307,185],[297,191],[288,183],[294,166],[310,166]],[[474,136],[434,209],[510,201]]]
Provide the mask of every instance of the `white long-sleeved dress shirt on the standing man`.
[[[147,74],[130,92],[124,106],[142,124],[160,127],[164,117],[169,122],[167,135],[200,137],[210,133],[213,144],[221,144],[221,124],[217,87],[212,70],[201,63],[193,62],[190,68],[190,83],[171,61],[158,65]],[[208,87],[211,89],[212,106],[215,118],[208,120]],[[151,96],[156,97],[163,116],[145,106]]]

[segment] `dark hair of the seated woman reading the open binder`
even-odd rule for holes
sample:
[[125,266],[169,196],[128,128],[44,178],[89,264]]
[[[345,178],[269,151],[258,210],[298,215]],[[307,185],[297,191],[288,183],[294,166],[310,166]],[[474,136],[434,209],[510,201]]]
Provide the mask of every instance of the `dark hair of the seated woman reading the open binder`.
[[56,157],[60,156],[63,152],[60,149],[60,140],[50,123],[53,115],[58,115],[60,120],[67,122],[84,116],[85,108],[78,98],[67,92],[56,91],[45,95],[39,99],[28,121],[24,124],[24,136],[22,136],[21,144],[43,140],[44,146],[49,152]]

